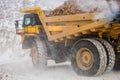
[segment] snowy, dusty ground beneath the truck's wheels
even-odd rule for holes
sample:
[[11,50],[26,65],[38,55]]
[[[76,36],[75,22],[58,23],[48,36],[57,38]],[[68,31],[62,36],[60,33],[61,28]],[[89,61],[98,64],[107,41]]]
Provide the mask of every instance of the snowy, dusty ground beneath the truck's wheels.
[[31,59],[0,65],[0,80],[120,80],[120,72],[109,72],[98,77],[78,76],[72,70],[70,62],[55,64],[48,61],[48,69],[35,70]]

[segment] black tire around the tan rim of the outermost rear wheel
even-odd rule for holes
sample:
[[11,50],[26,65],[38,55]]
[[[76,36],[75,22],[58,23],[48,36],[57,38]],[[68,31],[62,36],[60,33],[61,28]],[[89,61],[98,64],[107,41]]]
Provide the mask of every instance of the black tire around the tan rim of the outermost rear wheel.
[[[90,50],[94,59],[92,66],[87,70],[84,70],[82,69],[82,67],[79,67],[76,60],[78,51],[82,48]],[[97,76],[104,73],[107,64],[107,56],[103,45],[99,41],[93,39],[79,40],[73,46],[72,53],[72,67],[78,75]]]

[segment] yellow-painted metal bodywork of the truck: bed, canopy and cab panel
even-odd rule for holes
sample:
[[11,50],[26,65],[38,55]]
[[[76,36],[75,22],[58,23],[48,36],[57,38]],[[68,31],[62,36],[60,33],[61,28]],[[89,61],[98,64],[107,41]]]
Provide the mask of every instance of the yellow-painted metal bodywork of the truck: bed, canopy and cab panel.
[[[102,19],[94,21],[94,13],[46,17],[42,9],[38,7],[21,9],[20,12],[37,13],[49,41],[66,42],[66,39],[73,39],[74,37],[91,33],[98,33],[101,38],[104,33],[107,33],[108,36],[114,39],[118,39],[120,35],[120,24],[114,22],[111,26]],[[35,28],[37,28],[37,30],[35,30]],[[36,26],[35,28],[28,26],[23,29],[23,32],[28,29],[28,32],[39,34],[39,27]]]

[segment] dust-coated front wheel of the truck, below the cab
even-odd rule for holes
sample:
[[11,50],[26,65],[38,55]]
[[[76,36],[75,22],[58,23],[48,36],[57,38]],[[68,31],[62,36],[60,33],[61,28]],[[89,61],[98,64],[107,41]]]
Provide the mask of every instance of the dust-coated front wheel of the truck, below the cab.
[[47,47],[43,39],[35,39],[31,54],[34,67],[36,69],[45,69],[47,66]]

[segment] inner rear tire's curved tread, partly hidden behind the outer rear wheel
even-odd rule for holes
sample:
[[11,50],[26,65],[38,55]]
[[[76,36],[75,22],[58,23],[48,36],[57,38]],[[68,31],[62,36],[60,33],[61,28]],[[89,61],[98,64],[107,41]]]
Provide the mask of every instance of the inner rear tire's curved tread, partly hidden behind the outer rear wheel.
[[107,66],[106,66],[106,71],[109,72],[113,69],[114,64],[115,64],[115,52],[110,43],[103,39],[97,39],[99,42],[102,43],[106,50],[106,55],[107,55]]

